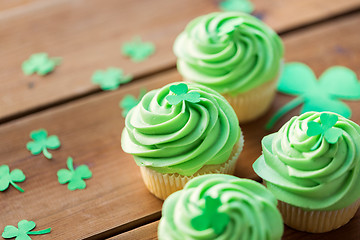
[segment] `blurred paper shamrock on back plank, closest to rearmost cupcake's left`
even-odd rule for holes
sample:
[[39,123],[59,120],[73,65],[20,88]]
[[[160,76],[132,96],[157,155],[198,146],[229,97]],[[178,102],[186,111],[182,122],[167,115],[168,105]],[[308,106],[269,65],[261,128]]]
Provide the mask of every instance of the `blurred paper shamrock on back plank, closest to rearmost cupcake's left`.
[[134,37],[131,42],[125,43],[121,48],[122,54],[131,58],[134,62],[141,62],[155,52],[155,46],[151,42],[142,42],[140,37]]

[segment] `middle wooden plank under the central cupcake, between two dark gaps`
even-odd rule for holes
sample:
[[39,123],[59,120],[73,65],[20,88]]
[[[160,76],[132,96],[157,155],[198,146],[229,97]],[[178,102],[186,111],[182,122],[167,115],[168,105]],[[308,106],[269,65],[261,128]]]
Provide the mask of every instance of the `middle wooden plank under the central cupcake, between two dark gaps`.
[[[317,74],[340,59],[342,65],[359,75],[359,69],[354,67],[360,63],[356,57],[360,54],[360,36],[354,31],[359,24],[360,14],[354,14],[288,34],[284,37],[286,59],[306,62]],[[334,50],[340,43],[345,55],[344,51]],[[304,55],[305,51],[308,54]],[[51,239],[104,238],[158,218],[161,201],[145,189],[132,157],[120,148],[124,120],[118,102],[126,93],[137,95],[141,87],[158,88],[180,79],[175,70],[170,70],[129,83],[118,91],[99,93],[0,126],[0,165],[20,168],[27,176],[26,182],[21,183],[25,193],[10,188],[0,194],[0,229],[29,219],[39,227],[52,227]],[[278,94],[266,116],[242,125],[245,149],[237,165],[237,176],[258,179],[251,164],[261,154],[261,138],[269,133],[262,126],[289,99]],[[354,110],[353,119],[360,123],[359,102],[349,105]],[[291,114],[296,112],[287,118]],[[282,119],[276,128],[286,120]],[[25,149],[30,140],[28,134],[38,128],[47,129],[62,141],[61,149],[52,151],[53,160],[31,156]],[[88,164],[93,171],[86,190],[70,192],[57,183],[56,172],[65,167],[68,156],[76,164]]]

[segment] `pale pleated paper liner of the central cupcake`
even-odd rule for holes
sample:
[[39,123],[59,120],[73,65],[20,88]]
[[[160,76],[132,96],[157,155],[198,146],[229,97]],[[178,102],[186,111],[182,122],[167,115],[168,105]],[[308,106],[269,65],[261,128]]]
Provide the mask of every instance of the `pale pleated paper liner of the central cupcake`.
[[222,164],[206,165],[191,176],[183,176],[178,173],[159,173],[147,167],[140,167],[141,175],[146,187],[156,197],[165,200],[170,194],[184,188],[192,178],[211,173],[234,174],[236,162],[244,146],[244,138],[235,144],[229,159]]

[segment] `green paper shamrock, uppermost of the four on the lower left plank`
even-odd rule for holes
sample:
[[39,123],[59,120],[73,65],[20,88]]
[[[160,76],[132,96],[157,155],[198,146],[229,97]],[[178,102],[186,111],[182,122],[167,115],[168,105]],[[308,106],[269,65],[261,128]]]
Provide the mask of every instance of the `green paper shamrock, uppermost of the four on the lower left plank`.
[[60,147],[59,138],[55,135],[50,137],[45,129],[39,129],[30,133],[30,138],[34,141],[30,141],[26,144],[26,148],[33,154],[37,155],[43,152],[47,159],[52,158],[52,154],[48,152],[49,149],[57,149]]

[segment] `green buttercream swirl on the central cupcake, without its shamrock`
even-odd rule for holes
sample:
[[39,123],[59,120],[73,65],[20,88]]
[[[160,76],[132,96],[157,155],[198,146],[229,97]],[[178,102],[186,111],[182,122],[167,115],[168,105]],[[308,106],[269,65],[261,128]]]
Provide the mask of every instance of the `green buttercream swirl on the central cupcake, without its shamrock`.
[[126,116],[123,150],[139,166],[190,176],[204,165],[226,162],[241,130],[234,110],[219,93],[186,83],[200,101],[170,105],[172,83],[148,92]]

